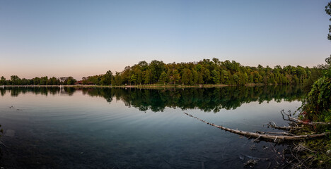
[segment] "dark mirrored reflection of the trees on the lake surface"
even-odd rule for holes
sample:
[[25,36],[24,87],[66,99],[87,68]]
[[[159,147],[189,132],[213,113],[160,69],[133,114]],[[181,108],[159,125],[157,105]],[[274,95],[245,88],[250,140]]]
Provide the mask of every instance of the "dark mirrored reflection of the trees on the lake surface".
[[187,89],[122,89],[122,88],[74,88],[74,87],[4,87],[1,96],[11,93],[18,96],[27,92],[42,95],[66,94],[72,96],[82,91],[88,96],[103,97],[109,103],[113,99],[121,100],[126,106],[133,106],[139,111],[164,111],[165,108],[199,109],[206,112],[219,112],[221,109],[236,109],[252,101],[280,102],[301,100],[306,92],[301,86],[270,85],[262,87],[220,87]]

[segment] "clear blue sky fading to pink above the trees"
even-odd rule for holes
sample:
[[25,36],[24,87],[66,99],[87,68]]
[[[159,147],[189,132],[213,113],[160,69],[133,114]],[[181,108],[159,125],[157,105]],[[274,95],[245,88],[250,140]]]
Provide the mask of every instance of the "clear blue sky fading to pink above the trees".
[[330,0],[0,0],[0,76],[77,80],[139,61],[325,63]]

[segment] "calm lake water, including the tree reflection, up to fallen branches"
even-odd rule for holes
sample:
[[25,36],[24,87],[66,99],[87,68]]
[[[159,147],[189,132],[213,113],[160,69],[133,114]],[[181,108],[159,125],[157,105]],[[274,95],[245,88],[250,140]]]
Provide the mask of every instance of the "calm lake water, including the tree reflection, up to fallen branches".
[[[273,146],[190,118],[239,130],[286,125],[301,87],[108,89],[0,87],[0,167],[255,168],[281,163]],[[276,146],[280,151],[284,146]]]

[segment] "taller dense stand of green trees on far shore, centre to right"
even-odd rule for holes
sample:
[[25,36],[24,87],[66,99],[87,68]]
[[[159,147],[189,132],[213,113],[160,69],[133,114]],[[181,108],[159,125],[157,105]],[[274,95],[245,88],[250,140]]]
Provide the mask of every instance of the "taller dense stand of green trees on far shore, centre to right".
[[139,62],[116,73],[112,84],[303,84],[318,79],[321,68],[243,66],[236,61],[204,59],[190,63]]

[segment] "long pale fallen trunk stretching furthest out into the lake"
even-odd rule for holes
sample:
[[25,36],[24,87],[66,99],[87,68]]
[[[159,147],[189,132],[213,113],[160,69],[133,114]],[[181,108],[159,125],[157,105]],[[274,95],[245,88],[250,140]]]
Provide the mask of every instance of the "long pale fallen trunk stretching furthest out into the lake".
[[218,127],[221,130],[226,130],[228,132],[232,132],[238,135],[242,135],[245,137],[250,138],[255,138],[256,140],[265,140],[267,142],[284,142],[284,141],[294,141],[294,140],[301,140],[301,139],[313,139],[313,138],[317,138],[317,137],[323,137],[327,134],[330,134],[330,132],[323,132],[321,134],[306,134],[306,135],[295,135],[295,136],[284,136],[284,135],[274,135],[274,134],[260,134],[257,132],[245,132],[245,131],[241,131],[241,130],[234,130],[231,128],[227,128],[227,127],[223,127],[222,125],[215,125],[214,123],[209,123],[205,120],[199,119],[197,117],[194,117],[193,115],[190,115],[189,113],[185,113],[185,115],[188,115],[192,118],[195,118],[197,120],[202,121],[203,123],[206,123],[207,125],[211,125],[214,127]]

